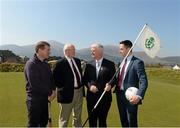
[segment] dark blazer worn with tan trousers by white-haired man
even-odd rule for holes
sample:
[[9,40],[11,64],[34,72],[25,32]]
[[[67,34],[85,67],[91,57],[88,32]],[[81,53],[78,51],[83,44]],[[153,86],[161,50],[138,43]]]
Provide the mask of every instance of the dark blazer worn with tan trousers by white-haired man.
[[[81,61],[77,58],[74,58],[74,60],[82,76]],[[74,95],[74,75],[65,57],[57,61],[53,76],[57,87],[58,102],[71,103]]]

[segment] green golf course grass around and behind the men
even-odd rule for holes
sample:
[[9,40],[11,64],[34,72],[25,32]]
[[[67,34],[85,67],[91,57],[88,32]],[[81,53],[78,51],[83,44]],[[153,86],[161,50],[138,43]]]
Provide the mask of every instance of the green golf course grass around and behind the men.
[[[146,69],[149,80],[143,105],[139,106],[139,126],[180,126],[180,71]],[[26,126],[25,80],[23,73],[0,72],[0,126]],[[52,103],[53,126],[58,126],[59,107]],[[86,100],[83,122],[87,118]],[[71,126],[71,120],[69,126]],[[108,126],[120,126],[115,95],[108,115]],[[87,124],[88,126],[88,124]]]

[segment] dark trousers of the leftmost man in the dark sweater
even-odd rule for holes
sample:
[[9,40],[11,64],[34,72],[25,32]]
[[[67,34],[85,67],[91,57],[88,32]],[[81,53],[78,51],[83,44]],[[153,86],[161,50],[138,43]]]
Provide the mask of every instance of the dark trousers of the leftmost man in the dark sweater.
[[27,100],[28,127],[46,127],[48,122],[48,100]]

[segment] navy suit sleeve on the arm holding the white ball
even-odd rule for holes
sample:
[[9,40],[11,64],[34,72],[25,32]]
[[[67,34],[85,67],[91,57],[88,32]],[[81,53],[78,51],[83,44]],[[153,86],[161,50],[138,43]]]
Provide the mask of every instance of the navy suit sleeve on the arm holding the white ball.
[[139,78],[139,90],[137,92],[137,95],[139,95],[143,99],[146,89],[148,87],[148,80],[147,80],[147,75],[144,68],[144,62],[138,61],[136,69],[137,69],[137,75]]

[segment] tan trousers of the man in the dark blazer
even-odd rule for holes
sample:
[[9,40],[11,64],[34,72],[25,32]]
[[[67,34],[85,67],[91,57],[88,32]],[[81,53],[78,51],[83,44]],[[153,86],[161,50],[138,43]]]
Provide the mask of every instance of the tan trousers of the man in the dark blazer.
[[81,114],[83,104],[82,87],[74,90],[71,103],[60,103],[59,127],[67,127],[71,112],[73,112],[73,127],[82,127]]

